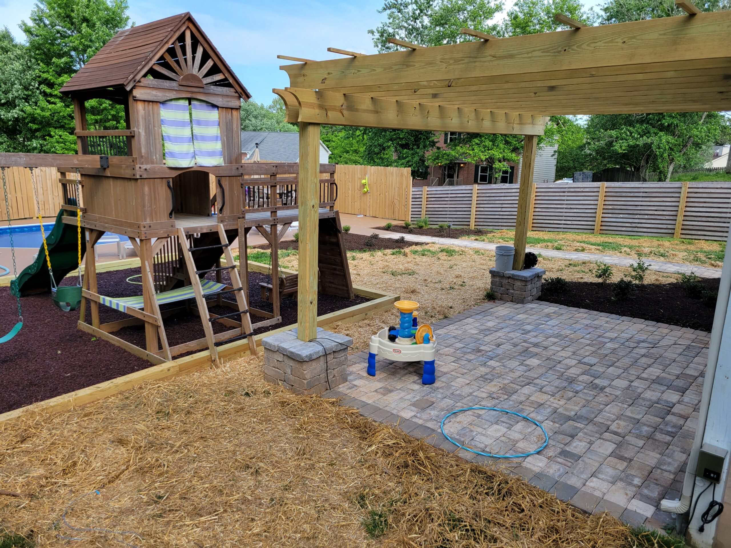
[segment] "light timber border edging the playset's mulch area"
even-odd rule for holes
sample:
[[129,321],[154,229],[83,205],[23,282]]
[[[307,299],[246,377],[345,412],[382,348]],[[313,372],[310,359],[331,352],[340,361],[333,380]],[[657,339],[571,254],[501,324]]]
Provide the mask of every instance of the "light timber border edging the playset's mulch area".
[[[140,259],[110,261],[109,263],[121,264],[114,265],[115,267],[107,268],[107,270],[130,268],[135,266],[135,261],[137,262],[137,265],[139,265]],[[249,270],[259,273],[268,273],[269,265],[263,265],[259,262],[249,262]],[[293,270],[281,270],[285,275],[295,274],[295,271]],[[7,283],[4,285],[7,285]],[[337,323],[338,321],[345,321],[347,323],[359,321],[376,312],[390,308],[393,302],[399,299],[398,295],[379,292],[375,289],[369,289],[362,286],[354,285],[353,291],[361,297],[370,297],[373,300],[363,302],[363,304],[360,305],[343,308],[342,310],[331,312],[329,314],[324,314],[323,316],[318,316],[317,326],[327,327]],[[279,329],[256,335],[254,340],[259,341],[269,335],[289,331],[295,327],[297,327],[297,324],[279,327]],[[229,343],[219,347],[219,357],[224,359],[235,359],[249,354],[249,342],[247,340],[237,340],[234,343]],[[191,354],[190,356],[173,359],[171,362],[152,365],[149,368],[135,371],[135,373],[129,373],[129,375],[94,384],[94,386],[91,387],[82,388],[75,390],[74,392],[69,392],[68,394],[51,397],[48,400],[31,403],[29,406],[7,411],[6,413],[0,414],[0,425],[17,419],[31,418],[41,414],[60,413],[61,411],[67,411],[72,408],[86,406],[88,403],[94,403],[102,398],[124,392],[125,390],[137,387],[147,381],[164,381],[169,378],[189,375],[190,373],[195,373],[196,371],[207,368],[210,365],[211,353],[208,350],[200,351],[196,354]]]

